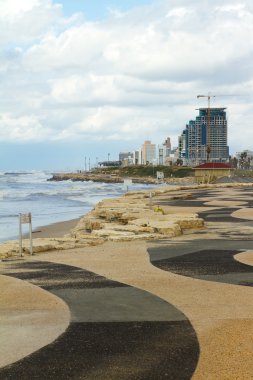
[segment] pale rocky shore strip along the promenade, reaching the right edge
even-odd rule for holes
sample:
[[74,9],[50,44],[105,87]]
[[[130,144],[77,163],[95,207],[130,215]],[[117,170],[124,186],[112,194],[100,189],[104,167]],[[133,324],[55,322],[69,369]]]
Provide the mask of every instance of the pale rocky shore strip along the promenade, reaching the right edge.
[[[185,234],[189,236],[194,230],[205,229],[204,220],[198,214],[201,210],[198,207],[172,207],[168,202],[190,199],[195,190],[245,186],[252,184],[163,186],[104,199],[80,219],[36,229],[33,234],[33,253],[98,246],[108,241],[150,241]],[[23,239],[23,253],[30,253],[29,239]],[[18,254],[17,240],[0,244],[0,258]]]

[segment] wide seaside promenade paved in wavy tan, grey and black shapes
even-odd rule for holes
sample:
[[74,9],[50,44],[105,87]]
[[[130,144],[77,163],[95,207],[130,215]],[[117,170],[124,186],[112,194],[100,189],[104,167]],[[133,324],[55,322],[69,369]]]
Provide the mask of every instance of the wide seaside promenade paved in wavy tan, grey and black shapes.
[[252,379],[253,187],[154,206],[203,228],[0,263],[0,379]]

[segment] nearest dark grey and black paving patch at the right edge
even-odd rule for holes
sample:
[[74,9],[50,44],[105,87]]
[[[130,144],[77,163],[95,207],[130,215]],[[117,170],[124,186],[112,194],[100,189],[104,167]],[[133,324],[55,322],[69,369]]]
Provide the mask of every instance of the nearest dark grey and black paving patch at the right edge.
[[200,280],[253,286],[253,267],[234,258],[252,246],[253,241],[244,240],[195,240],[180,247],[150,248],[148,252],[151,263],[164,271]]

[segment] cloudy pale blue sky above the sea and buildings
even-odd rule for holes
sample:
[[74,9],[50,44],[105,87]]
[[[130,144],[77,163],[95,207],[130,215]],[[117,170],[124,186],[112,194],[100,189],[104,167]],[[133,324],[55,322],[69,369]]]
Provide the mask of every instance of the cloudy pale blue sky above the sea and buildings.
[[253,150],[252,0],[0,0],[0,170],[83,169],[227,107]]

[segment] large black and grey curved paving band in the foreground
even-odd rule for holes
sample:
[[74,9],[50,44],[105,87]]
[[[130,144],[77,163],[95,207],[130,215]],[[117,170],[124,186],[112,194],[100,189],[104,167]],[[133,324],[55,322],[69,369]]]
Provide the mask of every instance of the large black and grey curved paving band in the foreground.
[[178,309],[145,291],[69,265],[6,263],[13,276],[69,306],[55,342],[0,369],[0,379],[190,379],[199,345]]

